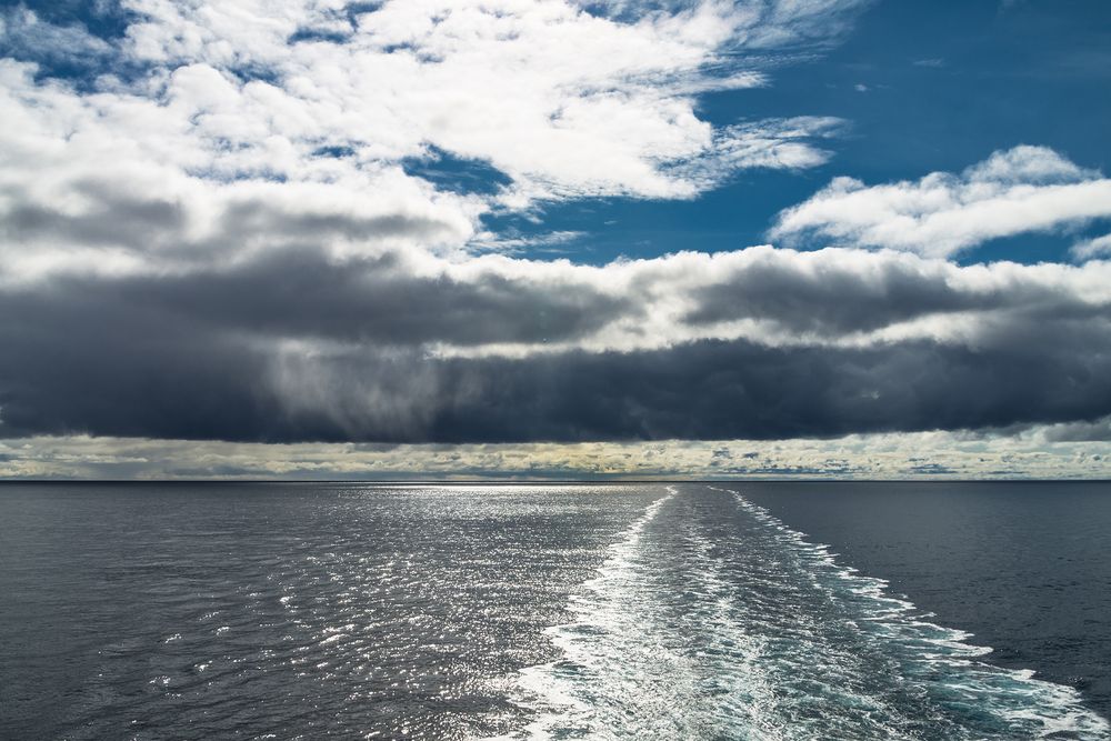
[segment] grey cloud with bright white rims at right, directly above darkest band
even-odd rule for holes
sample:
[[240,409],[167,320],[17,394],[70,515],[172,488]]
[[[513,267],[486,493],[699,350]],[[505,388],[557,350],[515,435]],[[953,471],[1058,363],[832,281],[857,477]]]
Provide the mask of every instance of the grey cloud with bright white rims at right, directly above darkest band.
[[1082,271],[1050,264],[960,268],[891,251],[770,248],[718,260],[721,280],[693,291],[684,320],[700,327],[767,323],[765,342],[878,343],[912,337],[978,342],[989,327],[1024,316],[1048,321],[1101,316],[1111,299],[1097,288],[1102,266]]

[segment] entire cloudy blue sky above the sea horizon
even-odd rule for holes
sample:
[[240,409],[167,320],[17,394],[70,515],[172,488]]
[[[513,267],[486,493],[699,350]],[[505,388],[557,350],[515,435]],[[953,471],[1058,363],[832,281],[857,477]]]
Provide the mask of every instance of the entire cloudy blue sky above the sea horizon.
[[1104,0],[0,2],[0,477],[1111,478]]

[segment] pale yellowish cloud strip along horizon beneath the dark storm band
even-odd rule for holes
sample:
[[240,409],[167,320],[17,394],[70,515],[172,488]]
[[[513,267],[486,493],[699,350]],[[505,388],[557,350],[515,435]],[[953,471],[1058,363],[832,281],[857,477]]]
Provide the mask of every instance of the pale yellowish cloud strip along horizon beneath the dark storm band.
[[[1105,425],[1107,420],[1103,420]],[[461,445],[257,443],[120,438],[0,439],[0,475],[26,478],[407,479],[1111,477],[1102,439],[950,432],[830,440]],[[929,465],[933,463],[933,465]]]

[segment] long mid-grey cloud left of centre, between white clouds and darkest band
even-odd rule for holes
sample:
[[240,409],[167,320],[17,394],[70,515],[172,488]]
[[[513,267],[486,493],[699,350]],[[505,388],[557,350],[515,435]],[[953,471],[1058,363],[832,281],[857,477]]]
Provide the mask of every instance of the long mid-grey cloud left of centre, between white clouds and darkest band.
[[[83,302],[91,313],[101,306],[119,317],[152,312],[167,318],[171,328],[190,326],[198,333],[379,347],[574,340],[639,311],[629,299],[581,282],[511,280],[494,272],[468,280],[421,276],[392,252],[334,262],[308,248],[270,251],[227,269],[107,281],[57,279],[49,289],[0,301],[8,302],[13,316],[28,314],[30,322],[38,321],[40,311]],[[26,308],[39,302],[46,306]]]

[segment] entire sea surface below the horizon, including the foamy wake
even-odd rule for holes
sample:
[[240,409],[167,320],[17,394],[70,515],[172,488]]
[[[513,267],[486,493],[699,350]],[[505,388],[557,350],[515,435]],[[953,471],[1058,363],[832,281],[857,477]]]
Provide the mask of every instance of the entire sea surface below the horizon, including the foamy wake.
[[1107,484],[4,484],[0,738],[1107,739],[1109,533]]

